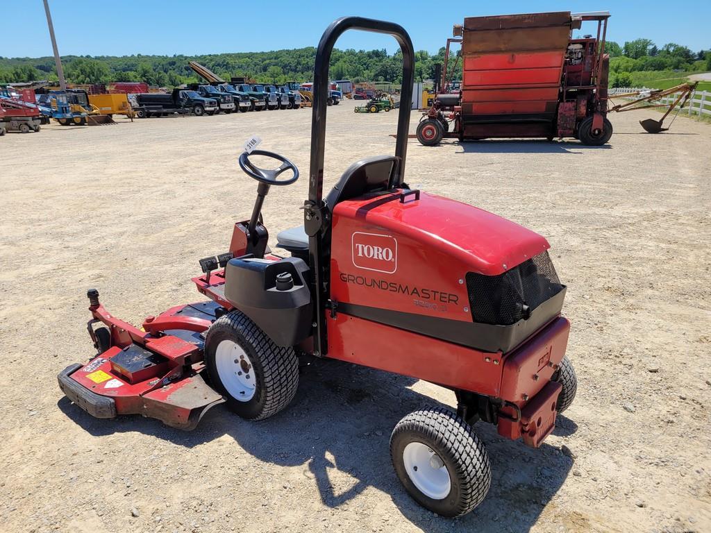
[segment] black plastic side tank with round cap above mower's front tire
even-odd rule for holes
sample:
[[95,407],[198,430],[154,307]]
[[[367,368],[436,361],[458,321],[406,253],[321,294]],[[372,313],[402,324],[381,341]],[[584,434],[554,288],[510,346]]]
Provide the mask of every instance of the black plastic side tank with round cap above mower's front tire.
[[[288,272],[294,286],[277,289],[277,274]],[[225,299],[245,313],[279,346],[294,346],[311,335],[309,267],[302,259],[230,259]]]

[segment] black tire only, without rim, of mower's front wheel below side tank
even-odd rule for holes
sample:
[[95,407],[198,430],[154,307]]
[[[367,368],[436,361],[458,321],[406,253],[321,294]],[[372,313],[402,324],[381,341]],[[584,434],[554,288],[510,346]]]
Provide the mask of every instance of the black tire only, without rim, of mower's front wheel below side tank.
[[[215,350],[232,340],[245,350],[255,373],[255,395],[240,402],[225,389],[215,365]],[[205,337],[205,365],[213,387],[225,397],[227,407],[242,418],[262,420],[277,414],[294,399],[299,387],[299,361],[294,348],[274,344],[266,333],[240,311],[218,318]]]

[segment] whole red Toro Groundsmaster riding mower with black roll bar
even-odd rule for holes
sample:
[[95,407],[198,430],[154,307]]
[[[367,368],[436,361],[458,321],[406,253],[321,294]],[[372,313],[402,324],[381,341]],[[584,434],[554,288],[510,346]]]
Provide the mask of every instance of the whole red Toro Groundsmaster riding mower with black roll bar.
[[[299,171],[278,154],[245,151],[240,166],[259,182],[257,200],[250,220],[235,224],[228,251],[200,261],[203,275],[193,282],[209,300],[149,316],[137,328],[89,291],[98,353],[60,372],[59,384],[93,416],[142,414],[193,429],[221,402],[245,419],[277,414],[296,393],[299,357],[424,379],[454,392],[456,412],[405,416],[390,439],[392,462],[417,502],[463,515],[491,483],[472,425],[495,424],[499,434],[537,447],[572,402],[565,286],[540,235],[407,186],[408,106],[400,108],[395,155],[353,163],[324,198],[328,64],[348,29],[397,39],[402,101],[412,99],[415,54],[402,27],[359,17],[328,27],[314,68],[304,226],[277,236],[289,257],[269,251],[261,210],[269,188],[294,183]],[[253,156],[279,166],[259,168]]]

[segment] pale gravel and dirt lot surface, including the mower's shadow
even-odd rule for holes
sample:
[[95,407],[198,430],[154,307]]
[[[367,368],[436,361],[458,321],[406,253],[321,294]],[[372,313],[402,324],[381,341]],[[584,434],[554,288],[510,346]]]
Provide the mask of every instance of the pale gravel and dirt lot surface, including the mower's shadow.
[[[352,106],[328,109],[327,185],[394,149],[397,114]],[[711,531],[711,128],[683,117],[653,136],[646,117],[613,116],[602,148],[410,141],[410,185],[545,235],[568,286],[577,399],[538,450],[475,426],[493,480],[466,517],[418,507],[390,465],[402,416],[454,406],[432,384],[322,361],[277,416],[220,406],[191,433],[92,419],[63,398],[57,373],[92,355],[86,289],[133,323],[198,301],[198,258],[223,252],[252,208],[240,146],[257,134],[306,176],[310,118],[119,119],[0,139],[0,530]],[[272,188],[272,236],[301,222],[307,181]]]

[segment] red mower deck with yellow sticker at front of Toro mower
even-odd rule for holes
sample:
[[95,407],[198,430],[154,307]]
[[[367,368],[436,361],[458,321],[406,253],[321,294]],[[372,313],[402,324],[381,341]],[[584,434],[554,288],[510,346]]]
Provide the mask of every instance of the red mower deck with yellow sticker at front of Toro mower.
[[[124,328],[125,323],[101,307],[115,330],[112,338],[138,333],[139,339],[114,345],[86,365],[66,367],[58,375],[60,389],[97,418],[141,414],[174,428],[194,429],[208,409],[224,402],[201,375],[204,340],[198,331],[215,320],[218,306],[211,301],[191,303],[146,319],[165,326],[162,336],[155,327],[154,333]],[[181,321],[190,328],[181,328]]]

